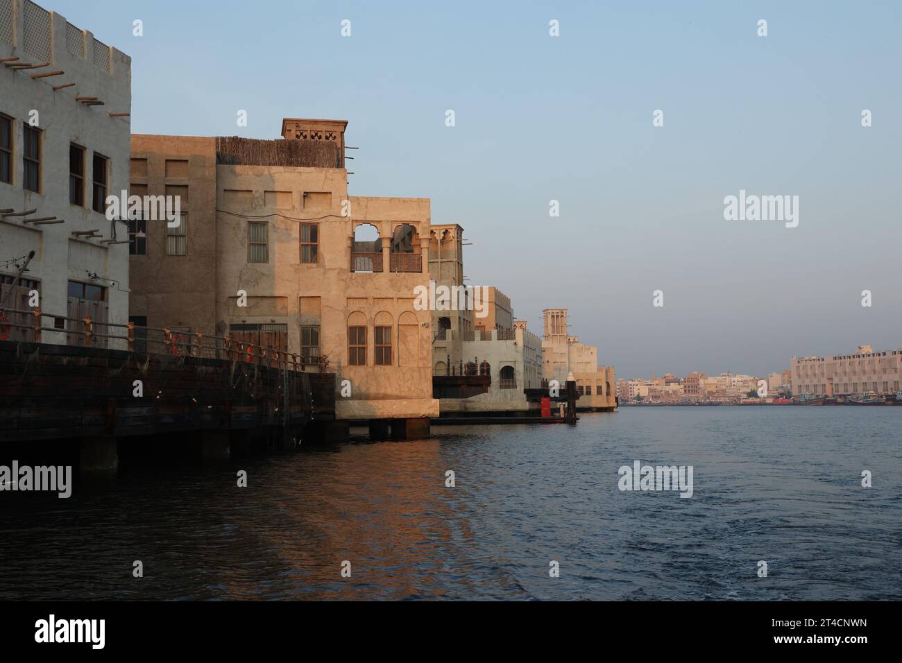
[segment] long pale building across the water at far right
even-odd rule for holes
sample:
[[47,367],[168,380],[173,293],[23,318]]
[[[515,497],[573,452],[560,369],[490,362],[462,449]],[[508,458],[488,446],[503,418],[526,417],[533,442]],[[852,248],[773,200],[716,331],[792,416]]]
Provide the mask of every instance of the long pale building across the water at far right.
[[792,392],[839,396],[875,391],[887,396],[902,389],[902,347],[874,352],[859,345],[851,355],[793,357]]

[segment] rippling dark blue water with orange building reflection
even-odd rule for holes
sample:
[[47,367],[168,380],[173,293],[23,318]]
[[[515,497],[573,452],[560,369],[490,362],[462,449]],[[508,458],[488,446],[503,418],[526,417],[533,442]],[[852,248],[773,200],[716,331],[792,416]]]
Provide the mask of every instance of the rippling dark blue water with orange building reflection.
[[[0,493],[0,599],[899,599],[900,424],[624,408]],[[621,493],[634,460],[693,465],[693,498]]]

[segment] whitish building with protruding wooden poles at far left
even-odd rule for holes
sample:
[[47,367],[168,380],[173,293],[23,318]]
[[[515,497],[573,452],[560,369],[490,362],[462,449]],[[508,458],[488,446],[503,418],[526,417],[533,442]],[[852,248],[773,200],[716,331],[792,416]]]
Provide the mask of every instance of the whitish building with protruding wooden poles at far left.
[[[84,342],[90,318],[91,345],[124,349],[106,323],[128,322],[128,227],[107,219],[106,197],[128,189],[131,58],[29,0],[0,0],[0,59],[0,308],[54,316],[43,343]],[[34,338],[12,325],[9,338]]]

